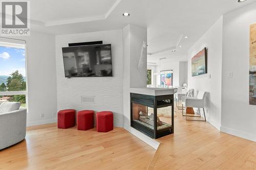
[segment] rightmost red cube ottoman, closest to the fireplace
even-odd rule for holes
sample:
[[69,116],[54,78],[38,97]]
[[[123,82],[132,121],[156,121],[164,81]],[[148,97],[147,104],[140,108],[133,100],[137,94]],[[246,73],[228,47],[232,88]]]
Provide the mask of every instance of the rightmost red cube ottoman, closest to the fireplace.
[[113,130],[113,113],[102,111],[96,114],[97,132],[109,132]]

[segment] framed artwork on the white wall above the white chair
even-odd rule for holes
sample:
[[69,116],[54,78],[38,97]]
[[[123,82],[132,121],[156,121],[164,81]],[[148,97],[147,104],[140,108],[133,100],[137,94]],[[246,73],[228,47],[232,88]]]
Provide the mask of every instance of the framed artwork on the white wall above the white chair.
[[206,47],[191,59],[192,76],[207,73],[207,50]]

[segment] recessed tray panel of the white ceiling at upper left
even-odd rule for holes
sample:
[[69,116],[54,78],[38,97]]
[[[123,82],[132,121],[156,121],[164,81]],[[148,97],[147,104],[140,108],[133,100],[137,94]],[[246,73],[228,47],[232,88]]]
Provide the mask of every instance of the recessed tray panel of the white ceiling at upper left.
[[46,26],[105,19],[105,15],[116,2],[116,0],[33,0],[31,19],[44,22]]

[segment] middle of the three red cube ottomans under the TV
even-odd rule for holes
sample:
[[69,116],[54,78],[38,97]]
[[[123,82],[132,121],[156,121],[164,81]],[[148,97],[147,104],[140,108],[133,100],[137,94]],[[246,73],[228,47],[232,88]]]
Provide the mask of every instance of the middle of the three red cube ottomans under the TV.
[[77,130],[86,131],[93,128],[93,110],[82,110],[77,112]]

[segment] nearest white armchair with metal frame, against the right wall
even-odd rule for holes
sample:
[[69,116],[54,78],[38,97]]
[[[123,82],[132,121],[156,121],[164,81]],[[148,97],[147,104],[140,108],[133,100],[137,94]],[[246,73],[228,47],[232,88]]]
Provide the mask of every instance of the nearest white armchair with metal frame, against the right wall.
[[[186,120],[206,122],[205,111],[204,111],[205,97],[206,97],[206,92],[205,91],[199,91],[197,97],[187,97],[187,96],[182,97],[182,107],[184,107],[185,110],[186,110],[187,107],[198,108],[199,114],[200,114],[200,116],[194,116],[194,115],[187,115],[187,113],[185,112],[185,115],[184,115],[183,114],[183,109],[182,109],[182,115],[186,116]],[[203,108],[204,120],[187,119],[187,116],[189,116],[189,117],[201,117],[200,108]]]

